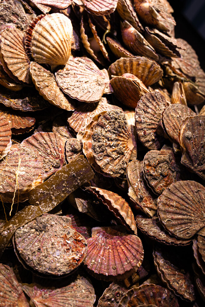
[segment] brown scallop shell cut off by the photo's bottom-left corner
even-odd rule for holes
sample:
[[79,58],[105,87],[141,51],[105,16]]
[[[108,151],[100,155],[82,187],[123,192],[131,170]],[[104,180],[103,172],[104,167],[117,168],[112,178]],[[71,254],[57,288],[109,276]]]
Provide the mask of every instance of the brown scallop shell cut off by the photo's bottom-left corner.
[[9,266],[0,263],[1,297],[0,305],[3,307],[29,307],[14,271]]

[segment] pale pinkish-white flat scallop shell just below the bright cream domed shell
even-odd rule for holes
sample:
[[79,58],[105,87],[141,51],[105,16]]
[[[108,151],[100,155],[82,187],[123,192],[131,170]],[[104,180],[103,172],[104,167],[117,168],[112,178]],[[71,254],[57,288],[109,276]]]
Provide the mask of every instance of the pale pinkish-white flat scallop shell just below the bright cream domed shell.
[[100,70],[87,57],[69,59],[65,68],[56,72],[55,75],[59,87],[66,94],[88,103],[99,101],[109,82],[108,72]]

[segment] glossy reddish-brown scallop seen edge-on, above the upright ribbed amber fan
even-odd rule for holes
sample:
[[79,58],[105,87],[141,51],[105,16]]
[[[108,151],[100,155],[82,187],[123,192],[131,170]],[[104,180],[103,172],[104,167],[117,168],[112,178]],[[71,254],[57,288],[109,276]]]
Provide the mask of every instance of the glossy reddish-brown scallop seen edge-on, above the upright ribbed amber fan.
[[152,60],[159,60],[154,48],[146,41],[143,35],[137,31],[128,21],[121,22],[121,33],[124,44],[135,55],[146,56]]

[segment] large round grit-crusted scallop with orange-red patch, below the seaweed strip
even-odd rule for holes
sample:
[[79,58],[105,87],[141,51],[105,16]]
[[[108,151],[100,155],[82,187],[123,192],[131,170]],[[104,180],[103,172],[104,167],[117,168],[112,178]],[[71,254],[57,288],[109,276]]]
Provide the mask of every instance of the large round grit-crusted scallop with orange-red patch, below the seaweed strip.
[[87,251],[85,238],[70,224],[66,216],[45,213],[18,228],[14,239],[20,257],[44,275],[69,274],[83,262]]

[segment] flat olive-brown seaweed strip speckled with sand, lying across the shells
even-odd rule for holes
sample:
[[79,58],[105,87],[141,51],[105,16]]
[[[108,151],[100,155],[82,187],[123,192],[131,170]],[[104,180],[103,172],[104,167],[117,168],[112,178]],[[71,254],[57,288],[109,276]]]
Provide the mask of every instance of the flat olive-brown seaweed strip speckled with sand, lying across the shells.
[[17,228],[55,208],[70,193],[93,177],[94,173],[90,165],[81,155],[31,190],[29,202],[35,206],[26,206],[0,228],[0,257]]

